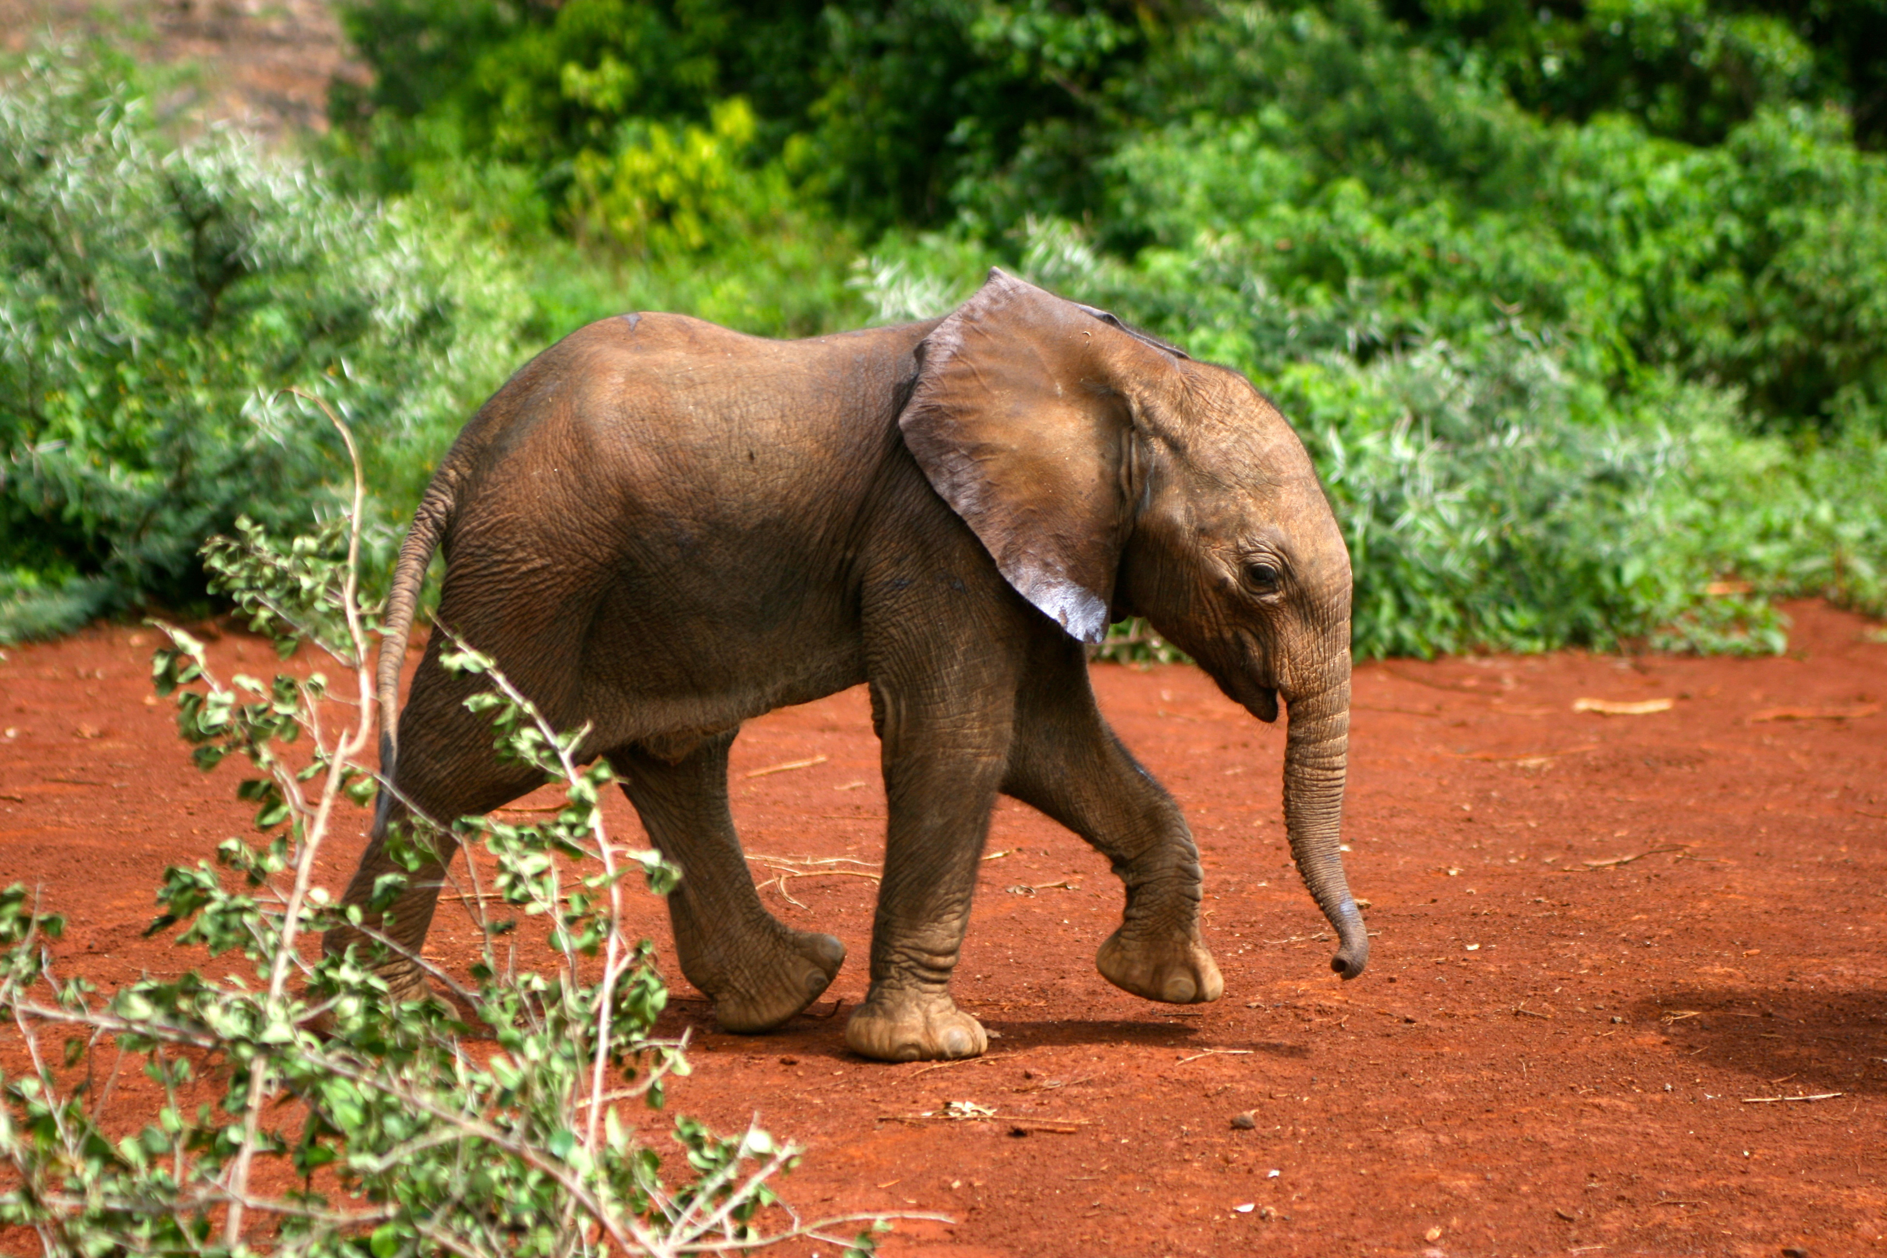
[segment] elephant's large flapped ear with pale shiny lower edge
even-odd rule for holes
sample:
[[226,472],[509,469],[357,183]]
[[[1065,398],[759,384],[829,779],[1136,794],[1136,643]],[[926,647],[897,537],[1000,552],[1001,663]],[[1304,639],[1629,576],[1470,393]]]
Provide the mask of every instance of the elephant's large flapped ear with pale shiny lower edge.
[[1132,526],[1136,398],[1181,356],[1002,270],[919,345],[906,447],[1004,579],[1081,641],[1108,630]]

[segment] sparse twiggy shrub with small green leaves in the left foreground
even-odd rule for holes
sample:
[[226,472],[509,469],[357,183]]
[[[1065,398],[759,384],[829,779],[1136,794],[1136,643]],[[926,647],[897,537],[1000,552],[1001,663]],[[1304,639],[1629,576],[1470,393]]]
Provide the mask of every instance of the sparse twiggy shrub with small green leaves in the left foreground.
[[[328,526],[276,543],[245,522],[206,566],[287,647],[326,649],[364,698],[359,541]],[[772,1181],[798,1149],[766,1132],[721,1137],[676,1118],[679,1167],[638,1132],[638,1109],[659,1109],[687,1062],[683,1043],[653,1035],[668,994],[649,943],[621,932],[625,881],[640,873],[662,894],[677,871],[611,845],[598,809],[610,771],[574,760],[585,730],[551,730],[489,660],[453,653],[453,668],[491,681],[472,705],[493,715],[500,753],[559,783],[564,807],[536,824],[459,826],[496,868],[494,896],[476,866],[459,888],[485,939],[472,986],[434,971],[457,1009],[392,1003],[372,969],[391,947],[374,930],[379,905],[342,907],[313,879],[338,809],[374,794],[357,764],[374,705],[340,705],[321,673],[223,681],[196,639],[164,632],[159,692],[175,698],[200,768],[249,762],[238,796],[260,805],[260,837],[225,839],[221,869],[168,869],[153,932],[181,926],[177,945],[240,956],[240,973],[191,969],[100,996],[43,947],[60,919],[23,886],[0,890],[0,1018],[32,1062],[0,1077],[0,1226],[32,1228],[58,1254],[666,1256],[781,1235],[872,1250],[879,1217],[800,1224],[774,1209]],[[430,826],[409,837],[453,841]],[[487,902],[543,924],[547,969],[498,943],[517,920],[487,919]],[[340,922],[381,943],[306,960],[298,941]],[[64,1041],[58,1060],[49,1039]],[[123,1101],[106,1126],[111,1086],[91,1086],[123,1069],[115,1054],[162,1094],[128,1132]],[[870,1230],[834,1235],[840,1224]]]

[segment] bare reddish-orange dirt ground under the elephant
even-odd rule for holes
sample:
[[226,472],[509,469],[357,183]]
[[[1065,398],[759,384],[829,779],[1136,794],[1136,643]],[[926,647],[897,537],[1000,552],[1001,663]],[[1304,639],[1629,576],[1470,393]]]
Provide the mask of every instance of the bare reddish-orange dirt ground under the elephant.
[[[664,1030],[693,1028],[696,1073],[672,1105],[804,1143],[783,1190],[810,1215],[957,1220],[900,1226],[885,1252],[910,1258],[1883,1254],[1887,645],[1855,617],[1791,611],[1793,653],[1770,660],[1361,668],[1347,860],[1378,937],[1349,985],[1285,856],[1281,728],[1191,668],[1096,668],[1115,728],[1196,828],[1225,1000],[1108,986],[1093,952],[1115,881],[1004,802],[957,981],[989,1056],[851,1056],[874,885],[808,877],[787,886],[804,907],[762,894],[845,941],[828,1000],[740,1037],[677,981]],[[202,781],[147,698],[151,645],[100,628],[0,662],[0,881],[43,886],[72,920],[62,964],[104,986],[202,964],[140,937],[151,888],[245,826],[236,771]],[[274,664],[238,634],[211,656]],[[1662,713],[1574,711],[1664,696]],[[1866,715],[1764,719],[1779,707]],[[747,851],[874,868],[876,768],[862,692],[751,722],[734,753]],[[640,841],[625,802],[610,822]],[[345,839],[332,885],[359,851]],[[666,952],[660,903],[636,917]],[[442,911],[432,952],[462,968],[472,941]],[[996,1117],[940,1117],[949,1101]]]

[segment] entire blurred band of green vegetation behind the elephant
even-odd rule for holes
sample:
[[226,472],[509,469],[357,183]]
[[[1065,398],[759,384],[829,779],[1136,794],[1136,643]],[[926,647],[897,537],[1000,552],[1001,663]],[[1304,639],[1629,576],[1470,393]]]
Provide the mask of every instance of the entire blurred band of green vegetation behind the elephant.
[[1247,372],[1362,654],[1887,613],[1887,0],[347,0],[294,153],[0,68],[0,637],[204,600],[372,455],[381,545],[589,319],[808,336],[1013,268]]

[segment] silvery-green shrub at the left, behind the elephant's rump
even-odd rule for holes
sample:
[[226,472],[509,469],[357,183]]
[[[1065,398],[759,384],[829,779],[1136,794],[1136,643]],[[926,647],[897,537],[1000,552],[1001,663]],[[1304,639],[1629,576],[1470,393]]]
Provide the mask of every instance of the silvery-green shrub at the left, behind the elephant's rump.
[[204,538],[304,519],[345,460],[283,387],[404,507],[528,309],[423,207],[232,134],[166,151],[111,79],[38,57],[0,91],[0,637],[200,600]]

